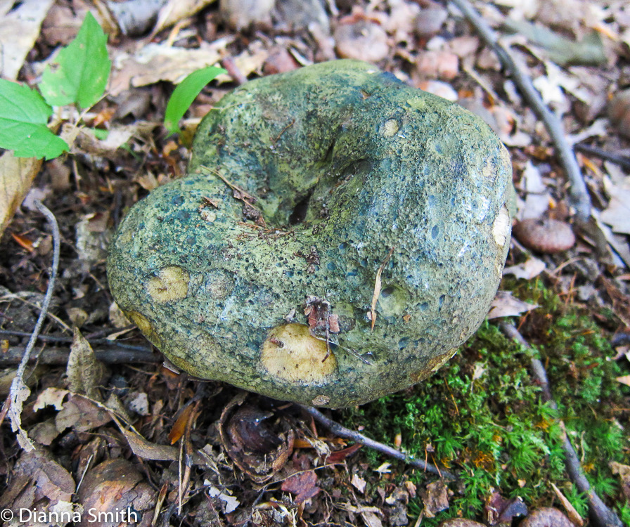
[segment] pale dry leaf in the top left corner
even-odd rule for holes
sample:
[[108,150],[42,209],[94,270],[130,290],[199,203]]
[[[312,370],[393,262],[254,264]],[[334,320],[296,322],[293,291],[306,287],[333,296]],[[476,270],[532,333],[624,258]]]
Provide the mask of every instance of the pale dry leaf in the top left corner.
[[27,53],[33,48],[39,27],[54,0],[23,0],[0,16],[0,75],[15,80]]

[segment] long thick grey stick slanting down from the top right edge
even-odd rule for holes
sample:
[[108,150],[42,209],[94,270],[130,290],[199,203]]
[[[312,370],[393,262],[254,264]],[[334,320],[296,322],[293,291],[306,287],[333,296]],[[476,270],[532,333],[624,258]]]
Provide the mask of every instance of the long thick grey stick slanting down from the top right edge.
[[520,89],[523,96],[529,101],[532,110],[534,110],[539,119],[544,122],[551,136],[551,141],[553,141],[555,145],[560,164],[564,167],[571,183],[569,188],[569,200],[570,204],[575,208],[576,219],[586,225],[586,223],[589,223],[589,218],[591,217],[591,197],[586,189],[586,183],[584,183],[584,177],[581,174],[575,154],[565,136],[562,122],[547,108],[540,93],[534,88],[532,79],[518,67],[510,51],[499,44],[492,28],[481,15],[475,11],[475,8],[470,5],[470,2],[468,2],[468,0],[450,1],[458,7],[468,22],[475,27],[480,37],[482,37],[486,44],[496,53],[501,65],[508,70],[514,83],[518,86],[518,89]]

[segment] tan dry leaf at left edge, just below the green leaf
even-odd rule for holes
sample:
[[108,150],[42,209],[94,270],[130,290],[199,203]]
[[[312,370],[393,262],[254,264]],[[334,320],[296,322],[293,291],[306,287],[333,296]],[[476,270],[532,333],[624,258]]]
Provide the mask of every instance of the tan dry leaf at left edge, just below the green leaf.
[[40,168],[41,160],[34,157],[15,157],[13,152],[4,152],[0,157],[0,235],[23,202]]

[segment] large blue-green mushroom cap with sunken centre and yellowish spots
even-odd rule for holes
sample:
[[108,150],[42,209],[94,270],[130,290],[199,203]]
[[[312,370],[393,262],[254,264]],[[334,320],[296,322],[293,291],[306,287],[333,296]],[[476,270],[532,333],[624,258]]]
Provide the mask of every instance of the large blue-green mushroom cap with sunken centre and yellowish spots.
[[366,403],[431,375],[484,320],[511,176],[481,119],[366,63],[256,79],[203,119],[188,176],[131,208],[110,288],[196,377]]

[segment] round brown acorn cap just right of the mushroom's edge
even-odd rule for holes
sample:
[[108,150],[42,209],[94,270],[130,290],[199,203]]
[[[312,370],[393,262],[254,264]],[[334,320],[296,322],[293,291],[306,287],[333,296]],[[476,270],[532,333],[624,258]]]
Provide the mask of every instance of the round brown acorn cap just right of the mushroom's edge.
[[546,254],[566,251],[575,244],[570,225],[555,219],[529,218],[518,221],[512,232],[528,249]]

